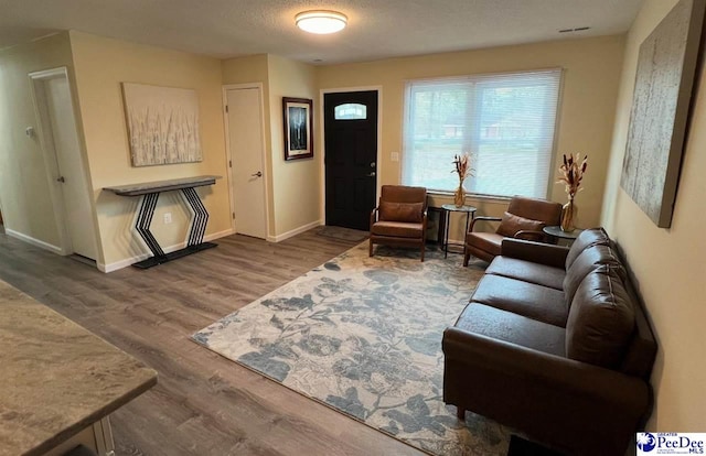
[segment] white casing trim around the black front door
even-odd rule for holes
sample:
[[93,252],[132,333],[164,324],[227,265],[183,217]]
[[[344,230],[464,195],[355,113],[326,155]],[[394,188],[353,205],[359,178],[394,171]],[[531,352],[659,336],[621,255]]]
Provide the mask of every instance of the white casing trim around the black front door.
[[323,112],[323,96],[327,94],[343,94],[349,91],[377,91],[377,158],[376,175],[375,175],[375,205],[379,199],[381,175],[383,169],[383,86],[363,86],[363,87],[341,87],[341,88],[325,88],[319,90],[319,144],[321,144],[321,153],[319,154],[319,170],[321,176],[321,192],[319,193],[319,211],[321,214],[320,219],[323,225],[327,224],[327,166],[325,166],[325,140],[324,140],[324,112]]

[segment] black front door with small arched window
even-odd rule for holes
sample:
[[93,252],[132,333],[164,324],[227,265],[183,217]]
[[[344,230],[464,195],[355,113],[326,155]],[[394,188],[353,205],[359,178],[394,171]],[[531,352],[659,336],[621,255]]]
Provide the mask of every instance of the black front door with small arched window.
[[377,183],[377,91],[323,96],[327,225],[370,229]]

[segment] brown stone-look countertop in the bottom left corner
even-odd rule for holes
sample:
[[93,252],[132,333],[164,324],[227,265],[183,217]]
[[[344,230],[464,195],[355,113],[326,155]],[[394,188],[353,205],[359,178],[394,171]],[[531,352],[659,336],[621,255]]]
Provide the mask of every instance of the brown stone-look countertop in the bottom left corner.
[[157,384],[157,372],[0,281],[0,456],[42,455]]

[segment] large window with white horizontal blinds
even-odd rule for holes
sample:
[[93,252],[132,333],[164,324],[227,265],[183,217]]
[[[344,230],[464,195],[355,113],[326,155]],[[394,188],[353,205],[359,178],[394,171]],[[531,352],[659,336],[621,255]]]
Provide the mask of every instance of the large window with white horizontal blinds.
[[560,76],[552,69],[409,82],[403,183],[453,191],[453,156],[469,152],[469,192],[546,197]]

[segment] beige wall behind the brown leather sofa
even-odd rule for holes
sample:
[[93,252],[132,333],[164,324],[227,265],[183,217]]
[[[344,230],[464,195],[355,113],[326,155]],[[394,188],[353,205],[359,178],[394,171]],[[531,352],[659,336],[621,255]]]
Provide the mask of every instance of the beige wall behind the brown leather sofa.
[[620,188],[639,47],[674,4],[676,0],[645,1],[628,34],[602,219],[609,234],[624,250],[639,280],[640,293],[660,344],[652,376],[656,406],[648,428],[703,432],[706,409],[706,365],[703,362],[706,352],[703,327],[706,321],[704,72],[697,75],[672,227],[657,228]]

